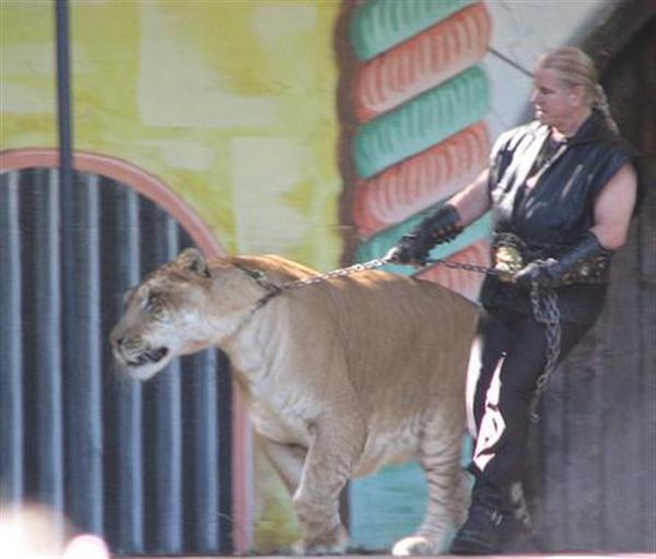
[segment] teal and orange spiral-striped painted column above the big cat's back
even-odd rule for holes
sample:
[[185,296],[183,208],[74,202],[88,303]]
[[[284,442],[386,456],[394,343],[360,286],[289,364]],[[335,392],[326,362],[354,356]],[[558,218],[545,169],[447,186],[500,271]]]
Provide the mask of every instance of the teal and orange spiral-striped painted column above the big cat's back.
[[[350,32],[359,58],[349,90],[359,173],[351,212],[358,260],[367,260],[487,166],[488,91],[477,63],[487,52],[491,20],[485,5],[471,0],[370,0],[353,11]],[[471,245],[449,258],[487,265],[489,227],[489,218],[475,224],[467,234]],[[431,255],[448,255],[440,251]],[[472,299],[482,282],[444,266],[421,276]]]

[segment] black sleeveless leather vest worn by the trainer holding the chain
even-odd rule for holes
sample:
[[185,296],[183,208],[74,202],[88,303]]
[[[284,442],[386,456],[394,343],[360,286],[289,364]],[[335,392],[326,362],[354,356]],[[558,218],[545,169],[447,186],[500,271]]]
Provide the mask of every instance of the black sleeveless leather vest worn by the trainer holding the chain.
[[[490,164],[495,234],[516,235],[540,258],[558,258],[594,225],[597,195],[635,156],[597,111],[562,144],[550,145],[549,135],[539,122],[511,130],[495,143]],[[594,322],[605,293],[604,285],[559,288],[562,319]],[[481,302],[531,312],[526,290],[493,276],[483,284]]]

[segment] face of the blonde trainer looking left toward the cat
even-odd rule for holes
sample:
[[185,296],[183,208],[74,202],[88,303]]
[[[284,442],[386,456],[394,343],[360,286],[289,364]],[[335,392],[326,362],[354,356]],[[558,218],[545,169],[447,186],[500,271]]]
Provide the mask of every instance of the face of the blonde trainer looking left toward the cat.
[[539,68],[534,76],[530,102],[536,118],[542,123],[561,128],[574,119],[581,109],[581,87],[571,87],[560,79],[558,70]]

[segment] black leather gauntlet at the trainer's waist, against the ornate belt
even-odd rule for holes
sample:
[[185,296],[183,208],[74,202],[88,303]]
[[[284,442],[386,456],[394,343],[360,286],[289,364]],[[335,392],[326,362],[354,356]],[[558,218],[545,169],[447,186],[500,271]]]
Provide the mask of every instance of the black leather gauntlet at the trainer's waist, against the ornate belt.
[[565,282],[567,275],[576,273],[586,260],[608,257],[610,253],[610,250],[599,243],[594,233],[586,231],[581,240],[558,260],[550,258],[530,262],[519,270],[513,280],[517,285],[526,288],[534,283],[540,287],[558,287]]

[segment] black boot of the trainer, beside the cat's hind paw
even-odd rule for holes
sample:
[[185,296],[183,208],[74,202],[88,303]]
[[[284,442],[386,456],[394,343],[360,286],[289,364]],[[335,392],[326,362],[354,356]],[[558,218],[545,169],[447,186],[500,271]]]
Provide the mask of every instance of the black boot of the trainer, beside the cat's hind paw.
[[492,555],[502,550],[509,510],[501,489],[477,479],[465,524],[454,538],[454,555]]

